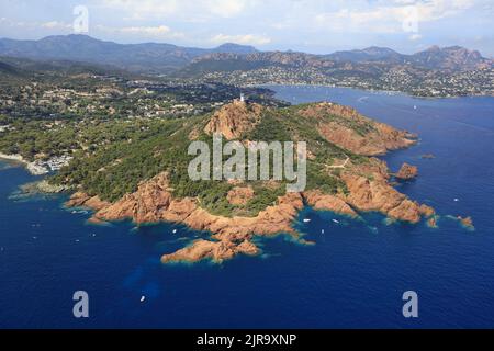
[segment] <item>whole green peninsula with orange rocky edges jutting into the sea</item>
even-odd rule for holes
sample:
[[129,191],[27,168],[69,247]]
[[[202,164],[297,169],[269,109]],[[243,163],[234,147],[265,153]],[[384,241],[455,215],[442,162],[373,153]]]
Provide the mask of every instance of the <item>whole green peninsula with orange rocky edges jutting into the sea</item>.
[[[250,140],[306,141],[305,191],[287,193],[282,181],[191,181],[187,146],[197,139],[211,143],[214,133],[245,145]],[[415,135],[339,104],[267,107],[235,101],[211,114],[168,122],[150,138],[76,157],[52,181],[76,189],[67,205],[94,210],[94,222],[172,222],[211,233],[210,238],[162,256],[164,263],[221,262],[240,253],[257,254],[255,236],[284,234],[306,244],[292,227],[305,205],[350,217],[379,212],[413,224],[433,217],[431,207],[391,186],[391,172],[375,157],[415,143]],[[101,165],[103,157],[106,166]],[[125,178],[138,181],[134,185]]]

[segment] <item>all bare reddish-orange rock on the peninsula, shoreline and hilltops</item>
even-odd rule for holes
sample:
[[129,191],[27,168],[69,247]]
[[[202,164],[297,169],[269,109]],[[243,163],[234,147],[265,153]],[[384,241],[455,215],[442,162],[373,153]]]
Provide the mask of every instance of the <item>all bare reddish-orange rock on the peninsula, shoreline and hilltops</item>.
[[[334,177],[340,179],[341,185],[346,190],[340,188],[334,193],[327,193],[321,191],[316,184],[314,189],[303,193],[279,195],[272,205],[261,210],[255,216],[232,214],[225,216],[202,208],[201,202],[193,196],[181,199],[175,196],[173,186],[170,185],[170,176],[165,171],[142,182],[135,192],[125,194],[116,202],[108,202],[98,195],[77,192],[71,196],[67,206],[92,208],[94,211],[92,220],[97,223],[122,219],[132,219],[136,224],[172,222],[212,234],[212,240],[198,239],[190,246],[165,254],[161,258],[164,263],[195,262],[203,259],[222,262],[238,253],[258,254],[259,249],[252,242],[254,236],[285,234],[304,242],[303,236],[293,229],[292,224],[296,214],[305,205],[352,218],[359,217],[359,212],[380,212],[389,218],[412,224],[418,223],[422,218],[430,220],[436,216],[434,208],[407,199],[391,186],[391,173],[385,162],[371,156],[411,147],[415,144],[416,136],[372,122],[352,109],[332,103],[307,104],[290,107],[287,111],[295,112],[297,118],[305,118],[305,123],[316,122],[316,128],[321,135],[327,140],[345,147],[348,154],[362,155],[353,156],[353,161],[350,161],[343,171],[335,171]],[[251,132],[248,128],[255,127],[251,124],[244,124],[251,121],[251,113],[258,114],[261,118],[277,117],[274,110],[234,102],[223,106],[211,117],[206,117],[210,118],[210,123],[206,124],[204,131],[211,133],[217,131],[231,138],[245,135]],[[340,120],[336,121],[339,122],[332,121],[333,117],[323,122],[330,115],[338,116]],[[317,122],[319,118],[322,118],[321,122]],[[366,129],[362,129],[368,133],[366,139],[341,125],[341,123],[347,124],[350,121],[353,121],[351,122],[353,128],[358,125],[366,126]],[[329,133],[329,128],[338,133]],[[189,136],[194,137],[199,133],[202,132],[195,131],[195,133],[189,133]],[[337,138],[335,138],[336,136]],[[406,165],[404,167],[407,169]],[[233,190],[238,192],[245,190],[245,186],[240,183],[236,188],[233,186]]]

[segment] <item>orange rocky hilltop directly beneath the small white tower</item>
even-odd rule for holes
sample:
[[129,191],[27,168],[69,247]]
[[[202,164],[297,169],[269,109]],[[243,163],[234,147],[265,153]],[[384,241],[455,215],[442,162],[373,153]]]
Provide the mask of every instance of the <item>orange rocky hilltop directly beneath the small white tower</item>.
[[262,106],[236,100],[213,114],[204,132],[209,135],[222,134],[226,139],[239,139],[259,123]]

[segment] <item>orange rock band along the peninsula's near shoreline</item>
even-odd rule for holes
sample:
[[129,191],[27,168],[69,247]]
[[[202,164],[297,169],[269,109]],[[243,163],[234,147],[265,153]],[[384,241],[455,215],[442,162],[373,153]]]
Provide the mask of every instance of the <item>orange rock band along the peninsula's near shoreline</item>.
[[268,206],[255,217],[217,216],[201,208],[197,199],[175,199],[166,172],[142,182],[136,192],[124,195],[115,203],[77,192],[66,205],[94,210],[92,223],[128,218],[136,224],[171,222],[184,224],[194,230],[210,231],[211,240],[195,240],[186,248],[164,254],[161,261],[197,262],[211,259],[222,262],[236,254],[257,254],[260,250],[251,241],[255,236],[285,234],[303,244],[304,240],[292,224],[305,204],[352,218],[359,216],[357,211],[377,211],[390,218],[409,223],[434,216],[434,208],[408,200],[388,184],[388,178],[385,163],[372,159],[371,165],[353,167],[351,171],[344,172],[343,180],[348,186],[348,194],[329,195],[318,190],[287,193],[278,197],[276,205]]

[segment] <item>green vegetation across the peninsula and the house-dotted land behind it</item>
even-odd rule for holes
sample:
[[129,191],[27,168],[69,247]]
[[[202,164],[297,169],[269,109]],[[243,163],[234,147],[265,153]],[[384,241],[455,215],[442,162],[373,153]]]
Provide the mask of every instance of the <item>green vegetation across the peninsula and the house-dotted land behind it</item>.
[[[3,70],[15,73],[10,66]],[[162,86],[149,93],[143,87],[127,87],[125,79],[99,73],[78,79],[61,69],[40,78],[37,84],[25,84],[22,77],[4,81],[0,152],[19,154],[30,161],[71,156],[69,165],[50,176],[49,182],[110,202],[135,192],[141,182],[164,171],[169,173],[173,196],[195,197],[203,208],[217,215],[256,216],[284,194],[285,182],[248,181],[243,185],[254,189],[254,197],[243,205],[233,205],[227,194],[235,185],[226,181],[192,181],[188,176],[193,158],[187,154],[190,135],[212,145],[212,137],[202,132],[211,117],[211,103],[236,97],[237,88]],[[249,97],[267,102],[265,105],[282,105],[272,103],[270,94],[261,89],[254,89]],[[173,114],[177,103],[184,103],[188,114]],[[347,157],[356,163],[367,158],[327,141],[318,133],[317,123],[336,122],[362,135],[371,132],[373,125],[336,115],[308,118],[300,113],[306,106],[265,109],[260,123],[242,139],[306,141],[306,189],[329,194],[346,192],[339,170],[328,170],[327,165]],[[164,113],[156,115],[156,111]]]

